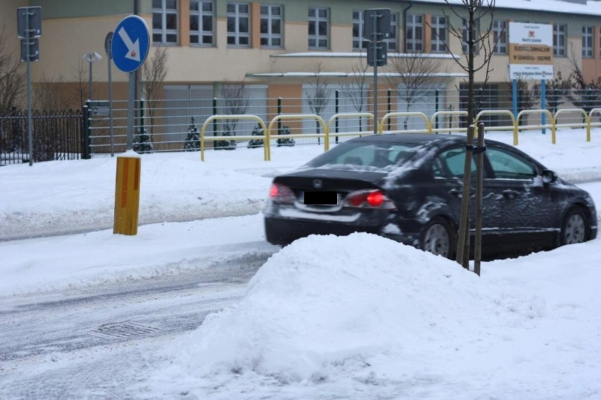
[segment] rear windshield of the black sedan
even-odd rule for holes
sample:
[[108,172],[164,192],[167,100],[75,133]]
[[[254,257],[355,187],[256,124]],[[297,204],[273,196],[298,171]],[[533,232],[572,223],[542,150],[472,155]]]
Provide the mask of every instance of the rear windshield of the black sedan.
[[415,154],[413,143],[346,142],[317,156],[307,168],[349,168],[360,170],[389,170],[402,165]]

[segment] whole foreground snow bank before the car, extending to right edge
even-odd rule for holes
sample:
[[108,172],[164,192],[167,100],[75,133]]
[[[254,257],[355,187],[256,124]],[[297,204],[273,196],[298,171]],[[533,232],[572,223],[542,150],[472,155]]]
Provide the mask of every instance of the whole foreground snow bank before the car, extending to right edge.
[[300,239],[144,385],[165,399],[595,399],[600,246],[477,277],[375,235]]

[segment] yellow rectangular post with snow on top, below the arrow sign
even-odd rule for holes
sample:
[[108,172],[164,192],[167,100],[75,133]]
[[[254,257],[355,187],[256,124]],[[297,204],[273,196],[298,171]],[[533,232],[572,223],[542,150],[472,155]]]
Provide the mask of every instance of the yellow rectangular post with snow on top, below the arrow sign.
[[138,234],[140,208],[140,168],[142,160],[135,156],[117,157],[115,186],[115,222],[113,233]]

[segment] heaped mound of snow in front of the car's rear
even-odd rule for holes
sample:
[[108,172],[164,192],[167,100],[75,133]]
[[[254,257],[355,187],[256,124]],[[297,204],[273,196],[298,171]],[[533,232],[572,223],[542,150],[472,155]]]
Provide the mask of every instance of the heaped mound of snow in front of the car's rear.
[[363,233],[313,235],[269,258],[239,304],[207,316],[180,344],[179,362],[197,378],[278,385],[373,375],[383,363],[399,368],[384,368],[388,375],[430,379],[469,369],[458,351],[482,329],[530,325],[544,313],[537,296],[499,291],[411,246]]

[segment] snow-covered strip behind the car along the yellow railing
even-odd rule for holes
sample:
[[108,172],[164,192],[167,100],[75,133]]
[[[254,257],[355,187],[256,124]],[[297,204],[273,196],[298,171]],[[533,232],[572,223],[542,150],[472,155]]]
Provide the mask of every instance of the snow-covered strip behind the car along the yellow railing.
[[[585,141],[583,130],[551,135],[522,132],[518,149],[575,182],[601,179],[601,129]],[[511,144],[510,132],[490,139]],[[140,224],[250,215],[260,211],[271,177],[321,154],[323,146],[142,155]],[[0,240],[113,226],[116,161],[93,158],[0,168]]]

